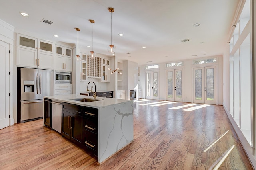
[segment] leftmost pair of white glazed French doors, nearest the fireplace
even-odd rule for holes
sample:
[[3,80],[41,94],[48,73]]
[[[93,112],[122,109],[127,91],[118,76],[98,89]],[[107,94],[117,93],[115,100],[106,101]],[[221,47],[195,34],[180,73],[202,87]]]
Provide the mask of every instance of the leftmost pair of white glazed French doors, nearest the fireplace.
[[158,71],[146,71],[146,99],[159,100],[159,75]]

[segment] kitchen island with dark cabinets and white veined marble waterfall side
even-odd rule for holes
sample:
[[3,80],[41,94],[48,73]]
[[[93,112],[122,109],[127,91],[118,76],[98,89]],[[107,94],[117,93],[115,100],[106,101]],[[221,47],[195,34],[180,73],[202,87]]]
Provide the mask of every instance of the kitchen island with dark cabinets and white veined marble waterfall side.
[[133,141],[132,100],[76,94],[44,100],[62,103],[62,136],[92,150],[99,163]]

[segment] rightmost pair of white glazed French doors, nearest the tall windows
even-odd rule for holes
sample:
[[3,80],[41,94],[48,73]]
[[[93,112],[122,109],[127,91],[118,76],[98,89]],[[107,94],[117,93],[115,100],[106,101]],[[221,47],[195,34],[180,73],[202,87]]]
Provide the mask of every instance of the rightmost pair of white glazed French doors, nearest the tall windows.
[[194,103],[216,104],[216,67],[193,68]]

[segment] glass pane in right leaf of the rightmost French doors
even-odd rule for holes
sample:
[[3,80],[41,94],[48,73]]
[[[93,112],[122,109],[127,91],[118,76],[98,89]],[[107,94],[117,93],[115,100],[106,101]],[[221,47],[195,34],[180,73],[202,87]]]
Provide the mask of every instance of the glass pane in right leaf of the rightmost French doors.
[[214,100],[213,68],[206,69],[206,100]]

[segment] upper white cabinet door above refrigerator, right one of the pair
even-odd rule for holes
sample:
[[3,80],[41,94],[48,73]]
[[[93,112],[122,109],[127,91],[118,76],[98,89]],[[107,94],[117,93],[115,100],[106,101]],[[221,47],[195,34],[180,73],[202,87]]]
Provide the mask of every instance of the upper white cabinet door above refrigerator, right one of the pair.
[[54,68],[54,54],[38,51],[37,66],[38,66],[38,68],[53,69]]

